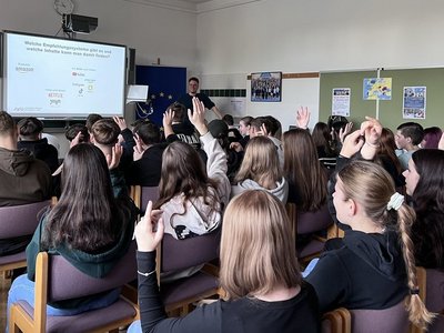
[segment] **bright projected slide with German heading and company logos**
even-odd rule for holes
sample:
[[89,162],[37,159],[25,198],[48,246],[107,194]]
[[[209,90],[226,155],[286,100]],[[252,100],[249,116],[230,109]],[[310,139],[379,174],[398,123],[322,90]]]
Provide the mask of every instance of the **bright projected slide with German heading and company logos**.
[[4,109],[13,115],[122,114],[125,48],[6,33]]

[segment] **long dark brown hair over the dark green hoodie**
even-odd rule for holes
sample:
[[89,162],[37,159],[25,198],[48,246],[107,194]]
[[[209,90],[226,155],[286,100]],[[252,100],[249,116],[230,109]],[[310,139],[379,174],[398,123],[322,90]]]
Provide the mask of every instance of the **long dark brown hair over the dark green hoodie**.
[[89,143],[74,145],[63,162],[62,193],[48,214],[42,244],[50,249],[65,243],[84,252],[103,249],[125,228],[124,214],[129,210],[113,196],[101,150]]

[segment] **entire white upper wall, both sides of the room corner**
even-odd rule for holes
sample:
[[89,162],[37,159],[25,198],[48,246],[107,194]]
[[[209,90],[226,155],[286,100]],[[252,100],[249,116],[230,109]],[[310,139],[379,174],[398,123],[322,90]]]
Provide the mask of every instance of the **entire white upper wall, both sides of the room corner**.
[[[444,63],[441,0],[258,0],[219,10],[204,3],[198,14],[147,1],[74,0],[75,13],[99,18],[98,30],[79,38],[135,48],[138,64],[160,58],[162,64],[186,67],[204,89],[249,91],[246,75],[259,71]],[[52,0],[0,0],[0,29],[56,34],[59,28]],[[282,95],[281,103],[251,103],[248,95],[244,114],[271,113],[286,128],[295,109],[309,105],[312,123],[317,121],[317,79],[283,80]],[[234,112],[231,99],[214,100],[224,112]]]

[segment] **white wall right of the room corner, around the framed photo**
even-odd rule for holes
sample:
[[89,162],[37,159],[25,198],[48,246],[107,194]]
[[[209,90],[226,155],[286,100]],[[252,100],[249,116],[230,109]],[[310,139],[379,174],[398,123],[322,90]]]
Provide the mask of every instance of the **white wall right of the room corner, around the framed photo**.
[[[243,74],[243,87],[249,88],[246,75],[259,71],[443,65],[443,14],[444,2],[438,0],[262,0],[201,12],[196,71],[206,89],[224,88],[223,80],[214,82],[212,77],[230,80],[230,73]],[[270,110],[284,122],[297,105],[312,104],[316,118],[319,88],[311,91],[312,83],[313,79],[284,80],[282,103],[271,108],[246,102],[245,113]]]

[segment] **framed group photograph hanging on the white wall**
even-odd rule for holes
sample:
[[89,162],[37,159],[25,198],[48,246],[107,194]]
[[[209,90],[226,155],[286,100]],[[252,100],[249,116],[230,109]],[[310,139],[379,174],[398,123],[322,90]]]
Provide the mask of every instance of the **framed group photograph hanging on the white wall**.
[[252,102],[280,102],[282,99],[282,72],[251,74]]

